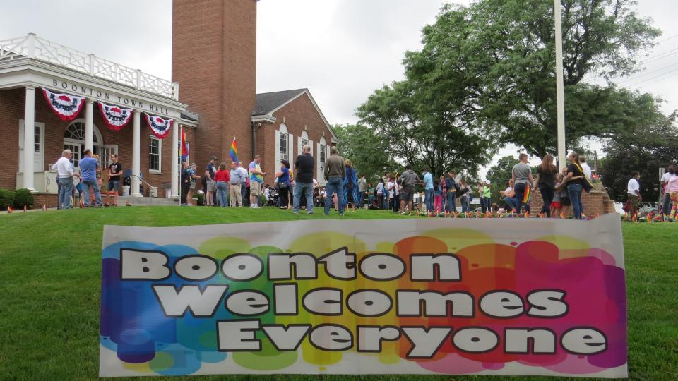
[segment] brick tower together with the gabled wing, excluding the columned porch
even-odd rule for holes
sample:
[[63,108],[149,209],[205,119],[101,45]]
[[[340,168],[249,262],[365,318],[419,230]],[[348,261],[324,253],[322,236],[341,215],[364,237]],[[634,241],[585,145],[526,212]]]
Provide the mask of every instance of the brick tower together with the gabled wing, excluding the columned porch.
[[230,162],[236,138],[239,161],[261,155],[265,181],[273,183],[280,159],[294,162],[309,143],[324,183],[321,159],[337,139],[309,90],[255,94],[256,3],[172,1],[172,80],[182,85],[179,100],[199,115],[194,161],[200,169],[212,155]]

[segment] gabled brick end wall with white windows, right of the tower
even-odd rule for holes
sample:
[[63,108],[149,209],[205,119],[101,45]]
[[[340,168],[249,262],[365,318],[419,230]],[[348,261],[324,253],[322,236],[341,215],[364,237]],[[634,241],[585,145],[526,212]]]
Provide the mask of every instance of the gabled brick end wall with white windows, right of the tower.
[[[331,145],[332,133],[325,125],[322,117],[316,111],[311,99],[307,95],[301,95],[297,99],[285,105],[278,111],[275,111],[275,123],[263,123],[256,133],[256,152],[261,155],[261,169],[268,171],[264,178],[267,183],[273,183],[275,180],[275,131],[280,128],[280,124],[285,121],[287,132],[294,135],[294,147],[290,156],[290,165],[294,165],[299,151],[297,137],[302,135],[304,128],[309,134],[309,140],[313,141],[313,154],[318,159],[318,147],[316,143],[320,142],[321,137],[325,137],[328,147]],[[315,175],[314,175],[315,176]]]

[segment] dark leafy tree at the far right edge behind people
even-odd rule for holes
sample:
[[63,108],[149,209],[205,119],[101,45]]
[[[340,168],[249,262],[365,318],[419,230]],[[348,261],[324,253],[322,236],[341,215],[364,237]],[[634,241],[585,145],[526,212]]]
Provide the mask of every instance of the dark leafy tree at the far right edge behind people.
[[631,172],[641,173],[643,200],[655,202],[660,197],[659,169],[678,164],[678,128],[676,114],[657,121],[654,126],[638,128],[617,137],[605,147],[600,175],[611,198],[624,202]]

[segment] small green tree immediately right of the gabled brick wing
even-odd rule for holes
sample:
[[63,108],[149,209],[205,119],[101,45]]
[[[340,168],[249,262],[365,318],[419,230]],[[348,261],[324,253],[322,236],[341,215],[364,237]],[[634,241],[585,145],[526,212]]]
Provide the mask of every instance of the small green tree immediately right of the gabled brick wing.
[[367,181],[376,181],[386,172],[395,172],[400,165],[389,149],[388,140],[376,135],[373,128],[362,124],[335,125],[333,131],[339,139],[339,153],[350,159],[359,174]]

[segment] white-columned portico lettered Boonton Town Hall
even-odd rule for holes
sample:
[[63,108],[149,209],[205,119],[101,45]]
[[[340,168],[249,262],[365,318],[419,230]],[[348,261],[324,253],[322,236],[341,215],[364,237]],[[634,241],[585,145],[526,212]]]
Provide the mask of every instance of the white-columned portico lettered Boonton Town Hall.
[[[77,119],[57,119],[47,107],[43,89],[84,97]],[[178,195],[179,128],[191,136],[197,126],[196,121],[182,119],[186,104],[177,100],[178,93],[177,83],[36,35],[0,41],[0,106],[6,108],[0,129],[8,139],[6,147],[17,142],[13,135],[19,143],[18,152],[5,150],[4,155],[13,157],[1,158],[8,167],[16,168],[16,178],[12,181],[1,176],[0,188],[54,193],[56,181],[49,179],[50,167],[61,150],[69,148],[76,169],[85,149],[100,155],[104,168],[110,155],[122,154],[124,169],[131,169],[131,195],[141,196],[140,179],[153,186],[169,183],[172,195]],[[106,129],[97,102],[132,109],[132,120],[119,131]],[[143,113],[172,120],[167,138],[150,133],[148,123],[141,120]],[[147,158],[142,157],[144,153]]]

